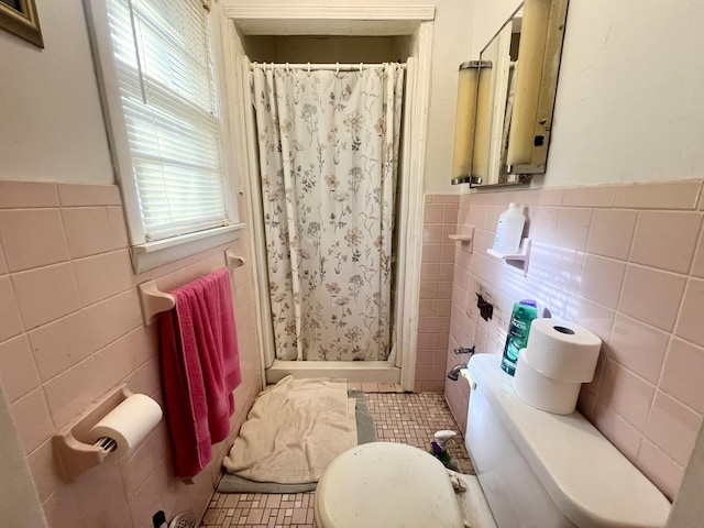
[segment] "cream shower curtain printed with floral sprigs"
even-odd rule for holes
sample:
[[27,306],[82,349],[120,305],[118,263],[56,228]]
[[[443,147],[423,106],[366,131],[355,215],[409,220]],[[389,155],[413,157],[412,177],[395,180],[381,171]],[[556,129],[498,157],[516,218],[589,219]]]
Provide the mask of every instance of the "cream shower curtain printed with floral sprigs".
[[404,70],[255,65],[279,360],[386,360]]

